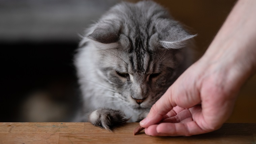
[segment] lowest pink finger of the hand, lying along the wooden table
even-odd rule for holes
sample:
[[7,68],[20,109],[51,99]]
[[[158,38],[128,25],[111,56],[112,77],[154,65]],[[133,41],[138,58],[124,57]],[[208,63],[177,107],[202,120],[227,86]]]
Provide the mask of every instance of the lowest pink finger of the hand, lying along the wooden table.
[[[152,131],[151,131],[152,132]],[[155,134],[157,135],[168,135],[168,136],[191,136],[206,133],[201,129],[195,121],[192,119],[185,119],[183,123],[160,123],[156,127]],[[148,134],[151,134],[148,132]]]

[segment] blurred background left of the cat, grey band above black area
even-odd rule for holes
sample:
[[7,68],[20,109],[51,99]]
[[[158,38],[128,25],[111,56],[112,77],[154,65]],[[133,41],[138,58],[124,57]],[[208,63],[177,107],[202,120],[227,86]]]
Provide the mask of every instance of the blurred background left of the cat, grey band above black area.
[[[45,121],[40,111],[38,119],[26,114],[45,101],[66,105],[47,121],[69,121],[66,116],[79,106],[73,66],[79,35],[118,2],[0,0],[0,122]],[[36,97],[32,106],[25,104]],[[54,113],[51,107],[46,111]]]

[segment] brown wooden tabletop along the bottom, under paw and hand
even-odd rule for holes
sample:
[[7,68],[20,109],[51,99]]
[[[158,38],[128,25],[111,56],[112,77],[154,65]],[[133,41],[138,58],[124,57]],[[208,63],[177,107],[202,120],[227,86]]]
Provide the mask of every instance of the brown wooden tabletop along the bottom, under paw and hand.
[[138,123],[127,123],[113,132],[90,123],[0,123],[0,144],[75,144],[75,143],[204,143],[255,144],[256,124],[224,124],[215,132],[191,137],[152,137],[140,132]]

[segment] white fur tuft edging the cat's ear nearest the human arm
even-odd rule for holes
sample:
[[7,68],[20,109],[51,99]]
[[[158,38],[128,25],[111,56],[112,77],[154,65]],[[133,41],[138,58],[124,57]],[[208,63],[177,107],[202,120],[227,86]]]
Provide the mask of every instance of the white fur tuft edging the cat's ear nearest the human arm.
[[185,38],[183,38],[182,40],[179,40],[179,41],[173,41],[173,42],[167,42],[167,41],[159,41],[160,44],[164,47],[164,48],[167,48],[167,49],[180,49],[180,48],[183,48],[186,46],[187,44],[187,40],[195,37],[197,34],[195,35],[189,35]]

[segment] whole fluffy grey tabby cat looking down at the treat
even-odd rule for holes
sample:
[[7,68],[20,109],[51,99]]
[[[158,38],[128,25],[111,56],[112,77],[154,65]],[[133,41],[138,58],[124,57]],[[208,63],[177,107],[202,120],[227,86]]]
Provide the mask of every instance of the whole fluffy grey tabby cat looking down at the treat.
[[95,126],[138,122],[191,64],[189,34],[152,1],[121,3],[92,25],[75,66]]

